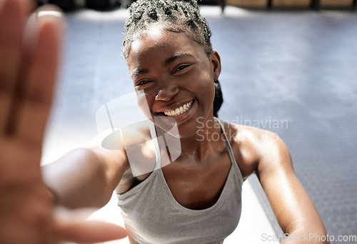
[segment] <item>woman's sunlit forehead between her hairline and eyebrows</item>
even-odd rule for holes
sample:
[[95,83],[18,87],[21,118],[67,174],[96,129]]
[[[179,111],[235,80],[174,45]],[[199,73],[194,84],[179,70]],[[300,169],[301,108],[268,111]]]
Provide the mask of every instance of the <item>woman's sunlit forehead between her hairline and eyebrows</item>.
[[190,39],[186,33],[151,27],[145,33],[137,34],[131,43],[129,69],[182,53],[196,57],[206,55],[203,46]]

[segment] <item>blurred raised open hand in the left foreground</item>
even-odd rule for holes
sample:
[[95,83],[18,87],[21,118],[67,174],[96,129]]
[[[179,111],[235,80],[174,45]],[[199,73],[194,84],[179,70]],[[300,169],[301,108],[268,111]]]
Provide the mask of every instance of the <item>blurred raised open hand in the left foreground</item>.
[[29,17],[30,2],[0,0],[0,243],[124,238],[123,228],[83,221],[79,210],[54,214],[40,159],[64,20],[49,6]]

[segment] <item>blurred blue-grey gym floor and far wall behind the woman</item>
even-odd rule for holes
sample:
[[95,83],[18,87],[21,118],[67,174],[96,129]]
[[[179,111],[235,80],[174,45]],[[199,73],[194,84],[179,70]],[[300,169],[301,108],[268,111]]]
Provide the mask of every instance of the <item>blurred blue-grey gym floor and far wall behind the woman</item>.
[[[96,110],[134,90],[121,56],[126,7],[131,1],[42,0],[37,4],[45,2],[59,4],[68,21],[44,145],[46,163],[73,148],[86,147],[97,134]],[[357,243],[356,1],[201,4],[212,29],[213,49],[222,61],[219,80],[224,102],[219,118],[281,136],[298,178],[328,234],[335,238],[332,243]],[[268,228],[283,235],[256,176],[247,182],[253,189],[247,199],[258,199],[249,213],[261,208]],[[263,223],[262,215],[247,219],[252,226]],[[337,240],[338,236],[344,239]]]

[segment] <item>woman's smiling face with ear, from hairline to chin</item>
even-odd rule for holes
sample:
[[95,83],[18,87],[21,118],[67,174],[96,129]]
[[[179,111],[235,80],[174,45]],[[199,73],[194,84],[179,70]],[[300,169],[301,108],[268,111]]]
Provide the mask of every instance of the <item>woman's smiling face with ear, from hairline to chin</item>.
[[167,131],[174,121],[186,138],[196,133],[198,118],[213,119],[221,72],[215,51],[208,57],[187,34],[152,27],[131,43],[128,64],[139,108],[156,125]]

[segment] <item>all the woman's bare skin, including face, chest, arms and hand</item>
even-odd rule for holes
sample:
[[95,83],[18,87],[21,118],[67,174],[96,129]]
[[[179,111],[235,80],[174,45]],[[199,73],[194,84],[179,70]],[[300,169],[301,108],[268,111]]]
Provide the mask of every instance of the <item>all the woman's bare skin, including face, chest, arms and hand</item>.
[[[74,211],[66,220],[54,215],[54,199],[47,186],[58,195],[59,205],[101,207],[113,190],[122,193],[147,175],[132,177],[124,150],[95,145],[73,151],[41,171],[41,143],[56,79],[62,20],[41,16],[36,22],[39,32],[24,40],[27,45],[23,49],[24,19],[29,13],[26,3],[4,0],[0,4],[0,209],[11,209],[11,215],[0,212],[0,243],[55,243],[63,239],[94,243],[121,238],[125,235],[121,228],[81,222]],[[31,46],[34,37],[39,41]],[[218,53],[207,56],[186,34],[156,29],[132,44],[129,70],[136,89],[145,93],[149,118],[166,119],[163,112],[193,101],[188,111],[174,118],[182,153],[163,172],[178,203],[186,208],[208,208],[221,194],[231,166],[224,141],[209,137],[221,133],[212,108],[213,81],[221,72]],[[21,93],[16,92],[18,88]],[[201,141],[196,133],[197,118],[205,125]],[[170,123],[161,122],[162,126]],[[316,208],[293,173],[283,141],[257,128],[224,126],[243,177],[257,174],[283,231],[326,235]],[[96,141],[99,144],[101,139]],[[26,205],[21,204],[24,200]]]

